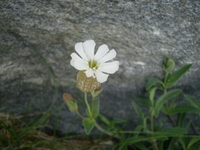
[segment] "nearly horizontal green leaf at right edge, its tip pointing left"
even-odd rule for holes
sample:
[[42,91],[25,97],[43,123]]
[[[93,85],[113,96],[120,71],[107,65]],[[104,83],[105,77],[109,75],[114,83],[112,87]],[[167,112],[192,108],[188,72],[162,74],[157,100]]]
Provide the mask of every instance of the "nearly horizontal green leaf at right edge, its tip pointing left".
[[200,109],[197,109],[194,106],[191,105],[180,105],[180,106],[176,106],[173,109],[168,110],[169,114],[177,114],[177,113],[200,113]]

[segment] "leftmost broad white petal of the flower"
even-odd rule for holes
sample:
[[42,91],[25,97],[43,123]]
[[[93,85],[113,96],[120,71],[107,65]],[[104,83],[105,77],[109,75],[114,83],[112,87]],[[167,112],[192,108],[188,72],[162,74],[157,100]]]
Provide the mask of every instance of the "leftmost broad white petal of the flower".
[[87,61],[81,59],[76,53],[71,54],[70,64],[77,70],[86,70],[89,68]]

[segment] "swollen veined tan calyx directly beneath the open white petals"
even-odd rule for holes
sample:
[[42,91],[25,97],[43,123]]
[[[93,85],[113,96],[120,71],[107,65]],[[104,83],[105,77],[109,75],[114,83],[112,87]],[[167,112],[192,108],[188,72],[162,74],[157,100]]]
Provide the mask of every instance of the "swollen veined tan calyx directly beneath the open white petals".
[[100,87],[100,85],[101,83],[99,83],[96,78],[87,77],[85,71],[79,71],[77,75],[77,86],[82,92],[92,92]]

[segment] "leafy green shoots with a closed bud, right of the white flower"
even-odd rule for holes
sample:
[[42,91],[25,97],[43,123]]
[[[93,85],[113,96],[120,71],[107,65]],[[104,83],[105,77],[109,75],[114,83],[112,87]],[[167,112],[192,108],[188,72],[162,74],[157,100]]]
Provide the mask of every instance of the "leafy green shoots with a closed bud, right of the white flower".
[[[170,89],[191,66],[189,64],[173,71],[175,68],[174,61],[165,58],[163,66],[164,79],[149,78],[146,84],[148,98],[136,98],[136,101],[132,102],[140,123],[133,132],[130,132],[133,133],[133,136],[121,141],[120,150],[126,150],[130,145],[144,150],[197,149],[196,144],[199,143],[200,137],[189,135],[188,128],[191,124],[188,123],[185,126],[184,121],[187,113],[200,113],[200,103],[193,97],[185,95],[189,103],[177,105],[176,100],[182,90]],[[160,91],[162,94],[160,94]],[[148,113],[144,113],[136,102],[148,107]],[[166,129],[163,126],[165,121],[158,123],[155,121],[161,113],[168,116],[172,122],[172,127]],[[178,115],[177,119],[173,115]]]

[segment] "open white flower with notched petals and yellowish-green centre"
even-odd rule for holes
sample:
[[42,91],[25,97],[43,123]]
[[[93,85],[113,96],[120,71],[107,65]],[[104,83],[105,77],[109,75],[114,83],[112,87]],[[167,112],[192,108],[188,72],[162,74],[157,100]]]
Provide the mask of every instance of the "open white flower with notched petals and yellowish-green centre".
[[96,78],[98,82],[103,83],[109,74],[113,74],[119,69],[119,61],[111,61],[116,57],[116,51],[114,49],[109,51],[105,44],[101,45],[94,54],[95,45],[93,40],[77,43],[75,50],[78,55],[71,54],[70,64],[77,70],[85,70],[87,77]]

